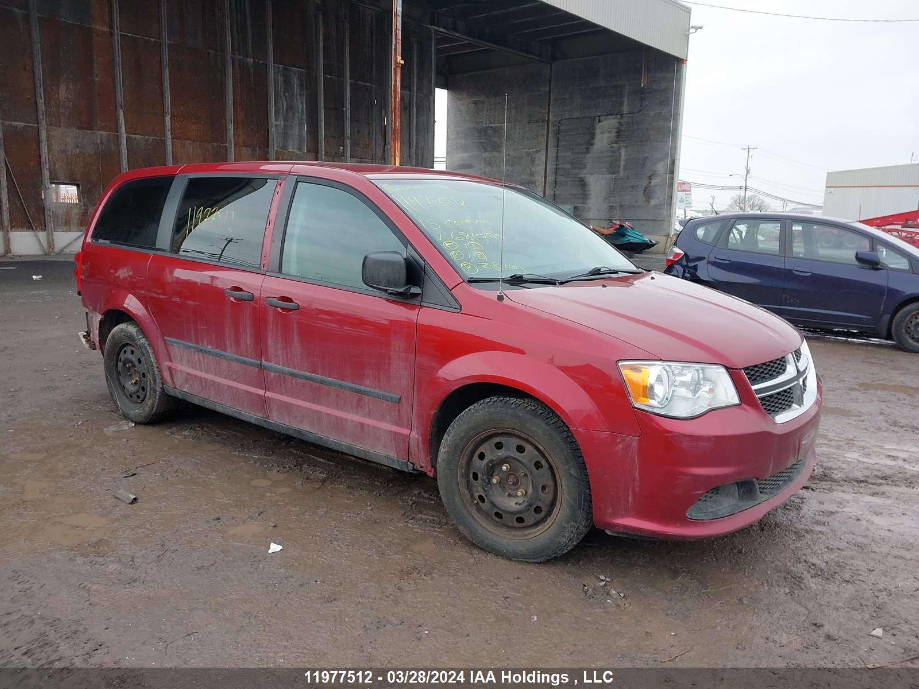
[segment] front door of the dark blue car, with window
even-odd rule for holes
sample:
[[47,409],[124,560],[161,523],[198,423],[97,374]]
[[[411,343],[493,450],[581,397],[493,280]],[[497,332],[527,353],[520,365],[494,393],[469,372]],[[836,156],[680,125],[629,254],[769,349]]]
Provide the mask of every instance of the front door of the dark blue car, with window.
[[856,261],[868,236],[827,222],[789,221],[783,315],[801,325],[873,328],[887,296],[886,270]]

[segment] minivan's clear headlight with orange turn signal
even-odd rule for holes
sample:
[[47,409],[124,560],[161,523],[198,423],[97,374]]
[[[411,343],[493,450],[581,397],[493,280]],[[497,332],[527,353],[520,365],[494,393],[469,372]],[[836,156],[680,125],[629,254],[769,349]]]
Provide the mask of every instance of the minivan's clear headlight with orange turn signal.
[[645,412],[690,419],[712,409],[740,404],[723,366],[672,361],[620,361],[632,404]]

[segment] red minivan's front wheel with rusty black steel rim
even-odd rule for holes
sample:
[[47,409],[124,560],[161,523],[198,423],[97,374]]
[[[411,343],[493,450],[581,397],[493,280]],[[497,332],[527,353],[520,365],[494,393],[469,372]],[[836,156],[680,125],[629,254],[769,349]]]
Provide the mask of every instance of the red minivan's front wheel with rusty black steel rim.
[[558,558],[593,525],[572,432],[526,398],[492,397],[460,413],[437,453],[437,487],[459,531],[507,559]]

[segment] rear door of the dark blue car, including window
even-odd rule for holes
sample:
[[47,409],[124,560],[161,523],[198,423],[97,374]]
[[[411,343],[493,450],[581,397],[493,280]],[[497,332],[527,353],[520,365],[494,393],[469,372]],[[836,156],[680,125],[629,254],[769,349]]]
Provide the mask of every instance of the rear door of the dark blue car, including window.
[[723,292],[782,311],[782,220],[738,218],[709,254],[709,281]]

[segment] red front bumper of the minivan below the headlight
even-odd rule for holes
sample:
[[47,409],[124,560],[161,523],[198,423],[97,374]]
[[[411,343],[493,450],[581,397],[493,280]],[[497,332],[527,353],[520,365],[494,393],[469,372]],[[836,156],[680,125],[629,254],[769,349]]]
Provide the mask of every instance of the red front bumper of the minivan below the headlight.
[[[636,411],[638,437],[575,430],[596,526],[647,537],[720,536],[753,524],[799,491],[816,459],[823,401],[819,378],[816,401],[784,424],[763,411],[752,390],[740,394],[739,406],[690,420]],[[787,474],[777,491],[752,494],[753,487],[765,489],[776,475]],[[687,516],[700,498],[728,484],[737,484],[737,501],[722,501],[723,516],[700,514],[698,507],[691,513],[696,518]]]

